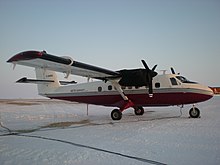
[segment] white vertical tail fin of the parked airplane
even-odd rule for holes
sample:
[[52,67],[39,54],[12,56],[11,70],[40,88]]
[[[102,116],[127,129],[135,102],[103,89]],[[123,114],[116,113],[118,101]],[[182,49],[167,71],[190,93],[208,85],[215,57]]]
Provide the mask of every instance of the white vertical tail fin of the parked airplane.
[[56,72],[42,68],[35,68],[35,71],[36,79],[38,81],[36,84],[39,95],[45,96],[49,93],[53,93],[57,88],[60,87],[60,82],[57,79]]

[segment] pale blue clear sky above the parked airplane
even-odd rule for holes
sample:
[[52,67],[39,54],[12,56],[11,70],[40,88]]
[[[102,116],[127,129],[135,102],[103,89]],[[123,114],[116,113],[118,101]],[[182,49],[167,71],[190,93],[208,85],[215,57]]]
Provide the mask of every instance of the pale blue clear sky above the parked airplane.
[[6,63],[26,50],[111,70],[145,59],[158,73],[172,66],[220,86],[219,0],[0,0],[0,20],[1,99],[39,97],[35,85],[15,83],[34,69]]

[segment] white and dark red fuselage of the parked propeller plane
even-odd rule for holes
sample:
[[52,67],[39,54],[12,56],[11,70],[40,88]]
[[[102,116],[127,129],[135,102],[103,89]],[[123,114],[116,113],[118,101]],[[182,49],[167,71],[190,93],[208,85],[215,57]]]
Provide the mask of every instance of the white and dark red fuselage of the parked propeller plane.
[[[121,88],[130,100],[141,106],[191,104],[208,100],[213,96],[209,87],[190,82],[175,74],[154,77],[153,98],[149,98],[147,86]],[[117,103],[122,99],[112,83],[104,81],[59,86],[49,93],[40,94],[49,98],[106,106],[118,106]]]

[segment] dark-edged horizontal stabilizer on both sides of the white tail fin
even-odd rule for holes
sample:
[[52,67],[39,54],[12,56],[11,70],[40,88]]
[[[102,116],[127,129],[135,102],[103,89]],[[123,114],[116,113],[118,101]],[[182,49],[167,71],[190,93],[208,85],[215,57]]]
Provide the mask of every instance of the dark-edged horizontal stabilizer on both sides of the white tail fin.
[[[16,81],[16,83],[33,83],[33,84],[49,84],[53,83],[54,80],[37,80],[37,79],[28,79],[27,77],[23,77]],[[76,84],[75,81],[59,81],[61,85],[68,85],[68,84]]]

